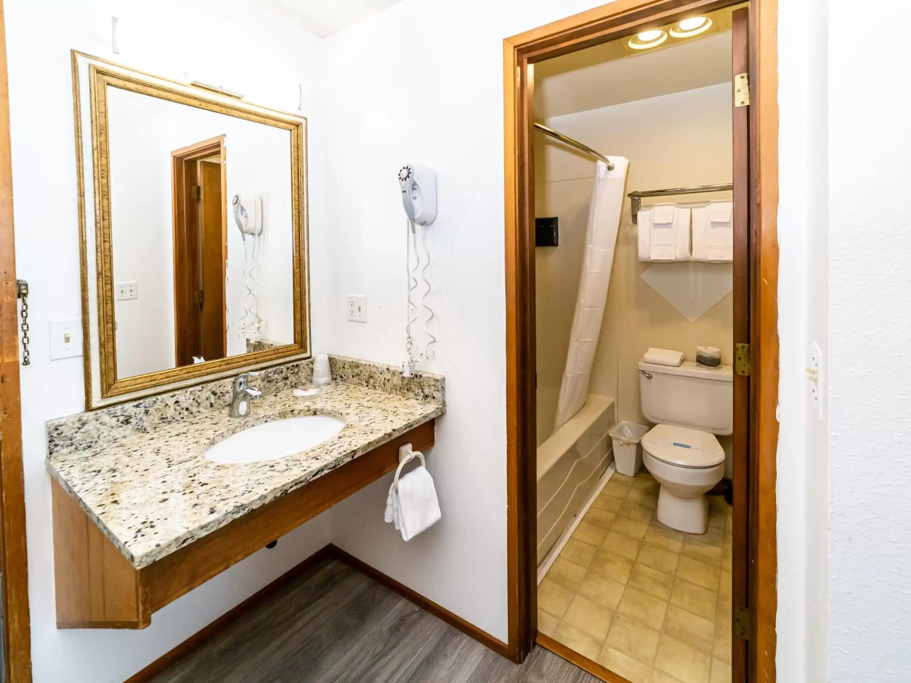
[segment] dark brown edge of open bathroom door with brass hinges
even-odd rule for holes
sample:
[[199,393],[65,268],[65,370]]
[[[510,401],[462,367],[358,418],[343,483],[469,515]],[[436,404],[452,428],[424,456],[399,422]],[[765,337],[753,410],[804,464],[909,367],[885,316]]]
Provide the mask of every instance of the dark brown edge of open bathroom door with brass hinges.
[[749,9],[732,14],[733,134],[733,555],[732,555],[732,680],[746,683],[750,627],[750,106]]

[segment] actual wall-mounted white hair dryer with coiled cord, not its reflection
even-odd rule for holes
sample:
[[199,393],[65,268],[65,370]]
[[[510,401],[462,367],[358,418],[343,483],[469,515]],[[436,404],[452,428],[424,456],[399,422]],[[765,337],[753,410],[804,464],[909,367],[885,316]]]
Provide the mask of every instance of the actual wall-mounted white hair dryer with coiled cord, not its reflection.
[[[408,322],[404,329],[404,347],[407,358],[402,363],[402,374],[404,377],[413,377],[417,363],[425,361],[434,355],[431,345],[436,342],[434,335],[427,329],[427,324],[434,318],[434,311],[425,303],[425,298],[430,292],[430,282],[425,274],[427,267],[430,265],[430,252],[427,250],[425,242],[425,227],[433,223],[436,218],[436,174],[434,169],[417,164],[403,166],[399,171],[399,188],[402,190],[404,212],[408,215],[408,233],[405,244],[408,254],[405,262],[405,268],[408,270]],[[421,251],[418,250],[417,246],[418,230],[415,229],[415,225],[421,226],[421,244],[424,246],[426,256],[423,267],[421,264]],[[414,268],[411,265],[412,250],[415,251]],[[420,301],[420,307],[427,312],[427,317],[424,320],[424,333],[427,337],[424,351],[420,350],[420,344],[415,342],[411,332],[412,324],[420,317],[420,310],[415,302],[412,301],[412,294],[418,287],[418,275],[420,275],[425,285]]]

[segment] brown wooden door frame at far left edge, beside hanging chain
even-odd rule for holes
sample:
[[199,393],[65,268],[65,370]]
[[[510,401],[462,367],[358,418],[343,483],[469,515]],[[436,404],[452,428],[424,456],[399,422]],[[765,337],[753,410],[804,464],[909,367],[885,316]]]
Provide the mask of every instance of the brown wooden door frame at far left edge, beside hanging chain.
[[29,683],[32,680],[32,636],[28,614],[18,318],[5,13],[3,0],[0,0],[0,572],[3,576],[3,644],[6,680],[9,683]]

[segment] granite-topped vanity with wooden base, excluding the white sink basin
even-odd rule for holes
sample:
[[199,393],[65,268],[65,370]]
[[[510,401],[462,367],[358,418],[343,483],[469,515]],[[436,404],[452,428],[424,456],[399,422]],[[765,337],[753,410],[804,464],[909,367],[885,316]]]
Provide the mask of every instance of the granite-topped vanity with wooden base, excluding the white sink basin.
[[[243,418],[229,416],[222,380],[48,423],[57,627],[148,627],[161,607],[393,471],[399,446],[434,444],[442,377],[332,366],[333,383],[307,398],[293,389],[308,386],[312,361],[261,372],[265,395]],[[304,415],[344,427],[278,459],[206,458],[233,434]]]

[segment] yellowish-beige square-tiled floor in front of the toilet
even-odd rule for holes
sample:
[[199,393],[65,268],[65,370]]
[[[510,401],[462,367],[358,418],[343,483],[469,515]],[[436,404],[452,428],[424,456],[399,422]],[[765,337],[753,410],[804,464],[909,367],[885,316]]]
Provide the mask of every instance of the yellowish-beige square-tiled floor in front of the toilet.
[[709,530],[655,518],[658,483],[614,474],[538,586],[537,627],[632,683],[731,680],[731,507]]

